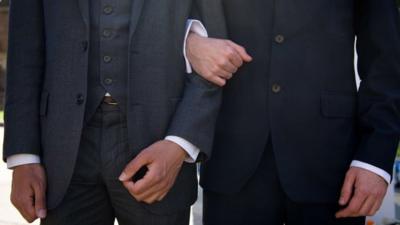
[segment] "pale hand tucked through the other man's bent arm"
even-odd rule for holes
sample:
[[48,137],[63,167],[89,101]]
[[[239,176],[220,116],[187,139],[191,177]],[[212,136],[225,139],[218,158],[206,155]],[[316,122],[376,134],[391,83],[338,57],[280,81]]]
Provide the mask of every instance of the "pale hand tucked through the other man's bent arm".
[[232,41],[205,38],[194,33],[189,34],[186,51],[193,69],[221,87],[244,62],[252,60],[242,46]]

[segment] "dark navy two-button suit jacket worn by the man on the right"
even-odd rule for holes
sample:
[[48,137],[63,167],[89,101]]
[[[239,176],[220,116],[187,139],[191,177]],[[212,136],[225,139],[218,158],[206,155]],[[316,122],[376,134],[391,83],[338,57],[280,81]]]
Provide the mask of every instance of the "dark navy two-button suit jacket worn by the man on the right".
[[297,203],[336,204],[352,160],[392,173],[400,133],[395,1],[207,2],[198,8],[209,34],[244,46],[253,61],[223,90],[213,154],[201,174],[206,194],[241,193],[265,151],[273,151],[281,188]]

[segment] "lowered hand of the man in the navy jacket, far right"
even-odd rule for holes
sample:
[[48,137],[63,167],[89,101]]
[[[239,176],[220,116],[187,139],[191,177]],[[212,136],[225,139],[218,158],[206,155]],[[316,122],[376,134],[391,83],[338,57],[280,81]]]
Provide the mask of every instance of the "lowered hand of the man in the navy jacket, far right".
[[346,208],[337,218],[373,216],[382,205],[388,184],[368,170],[351,167],[346,174],[339,204]]

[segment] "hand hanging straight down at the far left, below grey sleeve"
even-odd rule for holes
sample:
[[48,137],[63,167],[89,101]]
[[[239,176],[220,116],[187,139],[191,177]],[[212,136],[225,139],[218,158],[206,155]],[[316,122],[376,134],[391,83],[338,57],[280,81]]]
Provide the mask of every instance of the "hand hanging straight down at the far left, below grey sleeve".
[[46,217],[46,175],[40,164],[14,168],[11,202],[29,223]]

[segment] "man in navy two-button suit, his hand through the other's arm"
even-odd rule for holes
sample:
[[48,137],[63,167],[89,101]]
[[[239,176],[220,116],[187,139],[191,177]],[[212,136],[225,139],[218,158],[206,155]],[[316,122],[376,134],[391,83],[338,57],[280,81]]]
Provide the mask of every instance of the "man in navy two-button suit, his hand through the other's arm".
[[[213,38],[253,57],[223,89],[204,164],[205,225],[364,224],[391,180],[400,133],[394,0],[213,0]],[[188,56],[224,85],[240,46],[191,34]],[[357,91],[354,42],[357,43]]]

